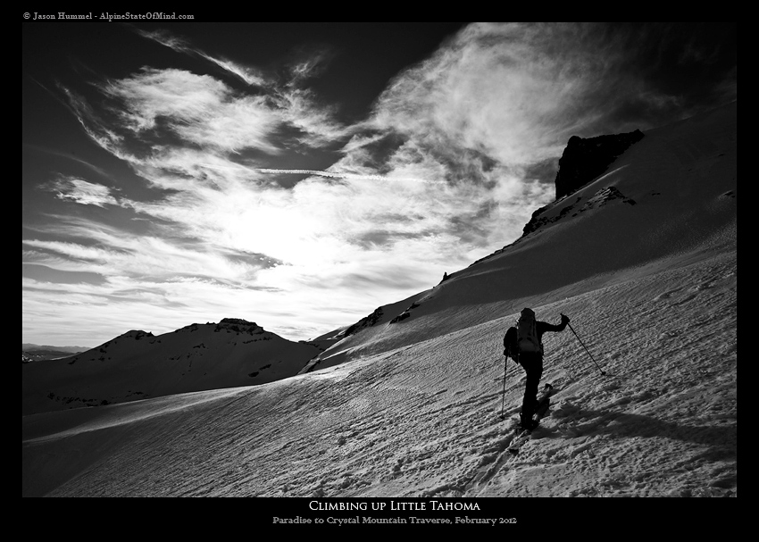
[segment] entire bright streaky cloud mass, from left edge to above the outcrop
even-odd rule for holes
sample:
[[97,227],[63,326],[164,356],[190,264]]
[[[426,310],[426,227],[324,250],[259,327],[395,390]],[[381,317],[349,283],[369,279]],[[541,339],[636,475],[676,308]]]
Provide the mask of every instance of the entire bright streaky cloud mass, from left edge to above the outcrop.
[[655,49],[636,31],[471,24],[346,126],[310,86],[329,75],[327,50],[274,77],[138,30],[203,69],[142,67],[96,82],[88,98],[59,89],[88,137],[152,190],[57,177],[47,188],[58,198],[128,218],[58,216],[24,241],[25,261],[105,277],[80,287],[83,318],[84,300],[97,299],[163,330],[257,312],[298,338],[345,325],[518,238],[553,199],[571,136],[683,114],[679,96],[652,83]]

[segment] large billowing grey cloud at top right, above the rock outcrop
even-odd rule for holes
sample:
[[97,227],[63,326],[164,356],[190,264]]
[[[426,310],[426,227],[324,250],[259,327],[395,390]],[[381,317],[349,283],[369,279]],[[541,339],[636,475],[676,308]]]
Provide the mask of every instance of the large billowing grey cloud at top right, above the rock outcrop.
[[[672,86],[671,63],[656,63],[655,51],[701,62],[713,50],[699,43],[678,51],[663,43],[665,28],[646,29],[473,23],[391,81],[374,105],[373,127],[413,142],[398,148],[400,163],[466,149],[522,166],[560,155],[571,136],[679,120],[687,89]],[[460,151],[455,158],[467,160]]]

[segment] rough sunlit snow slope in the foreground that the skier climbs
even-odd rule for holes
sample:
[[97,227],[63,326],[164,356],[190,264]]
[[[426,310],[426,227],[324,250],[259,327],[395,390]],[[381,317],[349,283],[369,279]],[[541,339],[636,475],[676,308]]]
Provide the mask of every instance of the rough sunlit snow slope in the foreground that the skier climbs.
[[50,495],[736,496],[736,272],[731,252],[535,307],[575,315],[607,374],[546,334],[541,385],[561,389],[516,456],[510,315],[104,429],[139,434]]

